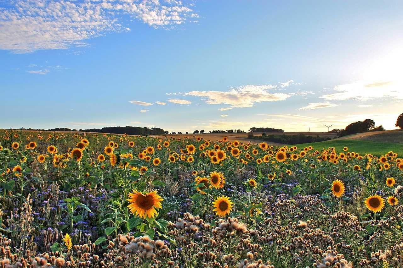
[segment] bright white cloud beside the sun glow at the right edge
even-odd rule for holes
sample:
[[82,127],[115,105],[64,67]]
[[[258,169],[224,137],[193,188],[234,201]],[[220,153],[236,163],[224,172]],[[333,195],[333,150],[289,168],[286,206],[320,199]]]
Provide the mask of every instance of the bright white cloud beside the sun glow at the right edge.
[[403,82],[399,80],[355,81],[334,87],[335,93],[320,96],[329,101],[348,99],[367,100],[391,97],[403,99]]

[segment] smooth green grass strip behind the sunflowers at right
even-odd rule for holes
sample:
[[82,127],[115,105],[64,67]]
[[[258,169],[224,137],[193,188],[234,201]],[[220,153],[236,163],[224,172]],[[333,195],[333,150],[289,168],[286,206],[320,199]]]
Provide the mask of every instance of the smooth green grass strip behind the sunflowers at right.
[[344,146],[349,148],[349,152],[356,152],[360,155],[370,153],[379,157],[389,151],[397,153],[400,157],[403,156],[403,144],[392,142],[374,142],[368,140],[327,140],[324,142],[312,142],[295,144],[298,148],[312,145],[314,149],[322,150],[322,148],[335,147],[337,152],[341,152]]

